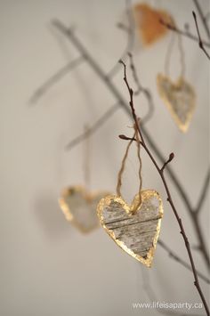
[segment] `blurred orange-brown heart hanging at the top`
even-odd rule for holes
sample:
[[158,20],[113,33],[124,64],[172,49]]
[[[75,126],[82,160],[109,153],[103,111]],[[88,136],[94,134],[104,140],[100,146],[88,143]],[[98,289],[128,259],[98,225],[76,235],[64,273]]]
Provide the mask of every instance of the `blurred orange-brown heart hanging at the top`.
[[143,45],[151,45],[166,35],[168,29],[160,20],[173,23],[172,17],[166,11],[153,9],[149,4],[135,4],[133,13]]

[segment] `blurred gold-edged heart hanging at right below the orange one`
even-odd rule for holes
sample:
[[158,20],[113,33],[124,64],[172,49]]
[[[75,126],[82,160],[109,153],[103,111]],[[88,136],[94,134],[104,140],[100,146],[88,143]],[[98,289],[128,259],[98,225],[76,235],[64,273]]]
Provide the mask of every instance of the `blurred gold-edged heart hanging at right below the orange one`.
[[169,77],[158,74],[158,92],[171,112],[176,125],[187,132],[195,109],[196,93],[193,87],[180,77],[173,82]]

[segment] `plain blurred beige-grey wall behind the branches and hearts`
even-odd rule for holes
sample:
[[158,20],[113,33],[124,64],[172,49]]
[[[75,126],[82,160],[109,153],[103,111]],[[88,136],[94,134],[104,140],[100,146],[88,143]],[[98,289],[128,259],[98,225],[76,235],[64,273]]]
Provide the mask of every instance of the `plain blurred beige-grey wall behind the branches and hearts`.
[[[145,1],[170,12],[176,24],[197,35],[191,0]],[[207,0],[199,1],[204,12]],[[72,150],[65,146],[85,124],[92,126],[116,102],[109,89],[88,63],[61,77],[44,95],[29,102],[37,87],[69,61],[77,49],[52,27],[52,19],[73,26],[93,59],[109,73],[126,45],[126,34],[117,22],[126,19],[125,1],[116,0],[0,0],[0,315],[1,316],[108,316],[156,315],[163,311],[133,308],[133,303],[152,301],[199,303],[190,271],[157,247],[151,269],[125,254],[102,228],[83,235],[65,220],[58,204],[61,190],[84,184],[84,143]],[[201,35],[206,38],[200,25]],[[135,37],[133,56],[141,85],[148,87],[154,113],[146,129],[167,158],[174,151],[171,167],[196,207],[209,164],[209,64],[198,44],[182,36],[186,79],[197,93],[197,107],[187,134],[175,126],[158,95],[156,77],[164,72],[170,32],[156,44],[143,46]],[[170,73],[175,80],[180,58],[174,45]],[[120,69],[113,77],[117,89],[128,100]],[[136,98],[140,117],[147,101]],[[115,192],[117,172],[126,143],[118,134],[132,134],[130,117],[118,109],[91,137],[90,190]],[[136,151],[131,150],[123,182],[125,199],[138,190]],[[189,261],[179,227],[166,193],[149,158],[142,152],[143,188],[158,190],[165,216],[160,237],[174,252]],[[166,174],[175,205],[193,247],[199,271],[207,269],[198,246],[189,212]],[[199,224],[209,239],[209,201],[205,199]],[[206,296],[206,282],[200,280]],[[153,296],[154,297],[154,296]],[[165,310],[204,314],[204,310]]]

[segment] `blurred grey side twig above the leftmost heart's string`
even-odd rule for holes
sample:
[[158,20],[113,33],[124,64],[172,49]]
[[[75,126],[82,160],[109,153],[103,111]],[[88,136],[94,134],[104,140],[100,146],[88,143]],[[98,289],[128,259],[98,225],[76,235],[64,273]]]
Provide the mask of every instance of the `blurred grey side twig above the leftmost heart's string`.
[[[94,124],[93,126],[90,126],[88,128],[88,137],[96,132],[98,128],[100,128],[108,119],[109,117],[114,114],[117,109],[120,109],[120,104],[117,102],[116,104],[112,105]],[[66,146],[66,150],[72,150],[77,144],[80,142],[83,142],[85,138],[87,137],[86,133],[82,133],[78,135],[76,138],[74,138],[72,141],[69,142],[69,144]]]

